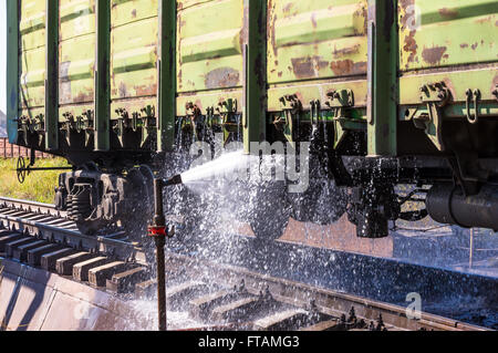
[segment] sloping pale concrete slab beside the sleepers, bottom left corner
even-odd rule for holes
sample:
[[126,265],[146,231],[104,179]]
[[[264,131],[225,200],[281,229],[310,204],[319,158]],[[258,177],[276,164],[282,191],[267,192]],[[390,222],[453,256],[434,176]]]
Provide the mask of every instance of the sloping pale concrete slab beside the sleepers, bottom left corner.
[[1,331],[154,330],[154,312],[44,270],[0,258]]

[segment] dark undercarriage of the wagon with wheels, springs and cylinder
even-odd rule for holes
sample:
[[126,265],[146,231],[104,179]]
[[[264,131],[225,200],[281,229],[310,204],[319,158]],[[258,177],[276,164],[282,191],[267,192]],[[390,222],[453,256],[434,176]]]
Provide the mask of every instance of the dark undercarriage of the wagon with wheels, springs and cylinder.
[[[495,125],[489,123],[490,127]],[[195,128],[200,129],[199,126]],[[264,181],[256,191],[252,189],[253,193],[237,194],[240,199],[232,208],[234,214],[250,224],[259,238],[279,238],[290,217],[330,225],[344,214],[363,238],[388,236],[390,221],[417,221],[427,216],[442,224],[498,229],[497,159],[458,158],[455,154],[369,157],[362,133],[351,132],[339,148],[332,149],[328,147],[329,129],[325,127],[328,125],[317,124],[301,132],[301,137],[308,136],[311,141],[307,145],[310,183],[304,191],[288,193],[290,181]],[[176,160],[195,159],[186,153],[195,136],[212,143],[214,138],[206,137],[207,128],[204,135],[194,134],[193,128],[187,125],[180,132],[188,138],[184,139],[184,148],[172,154]],[[236,133],[227,136],[231,136],[232,142],[240,138]],[[455,144],[454,137],[448,141]],[[293,154],[299,159],[300,145],[294,146],[298,148]],[[212,146],[212,150],[215,148]],[[123,167],[118,173],[103,172],[95,164],[87,164],[76,172],[62,174],[55,205],[69,211],[69,217],[85,232],[117,224],[145,233],[146,221],[152,216],[155,175],[169,177],[186,169],[185,165],[183,169],[164,167],[174,165],[172,155],[159,154],[148,164]],[[248,184],[237,187],[249,189]],[[186,229],[196,231],[198,214],[206,211],[201,209],[201,201],[185,188],[175,193],[180,193],[177,200],[185,203],[176,209],[190,222]],[[246,201],[241,201],[243,198]],[[405,209],[406,204],[412,207]],[[235,210],[240,205],[251,205],[251,208]]]

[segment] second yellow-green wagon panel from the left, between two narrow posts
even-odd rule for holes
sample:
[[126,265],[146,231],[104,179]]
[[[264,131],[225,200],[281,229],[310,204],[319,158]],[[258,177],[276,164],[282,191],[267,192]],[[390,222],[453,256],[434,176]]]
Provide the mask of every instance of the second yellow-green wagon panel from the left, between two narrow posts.
[[[61,0],[60,29],[59,103],[62,116],[73,108],[65,105],[94,100],[95,1]],[[82,107],[77,108],[74,116],[82,112]]]

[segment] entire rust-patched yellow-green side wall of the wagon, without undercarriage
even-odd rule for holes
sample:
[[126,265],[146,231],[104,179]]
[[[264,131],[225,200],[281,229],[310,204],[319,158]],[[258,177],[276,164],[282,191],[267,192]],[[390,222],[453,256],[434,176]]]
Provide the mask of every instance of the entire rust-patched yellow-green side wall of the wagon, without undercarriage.
[[[189,114],[186,106],[206,115],[237,100],[236,113],[247,117],[248,150],[248,142],[263,139],[266,124],[282,115],[282,96],[295,95],[302,124],[310,122],[309,103],[320,101],[320,114],[335,126],[333,147],[346,131],[364,131],[370,120],[372,156],[395,155],[397,144],[405,144],[396,141],[396,123],[427,113],[419,87],[429,83],[444,82],[450,92],[442,110],[445,118],[466,118],[467,90],[480,92],[479,115],[497,115],[496,0],[444,6],[432,0],[59,0],[59,65],[46,60],[54,59],[56,35],[46,22],[54,21],[56,10],[53,6],[46,12],[45,1],[21,0],[19,11],[15,1],[8,1],[9,49],[19,46],[8,51],[13,142],[18,116],[48,115],[49,125],[55,126],[48,112],[56,108],[56,101],[59,124],[65,123],[64,114],[77,117],[94,111],[96,126],[89,134],[96,128],[95,146],[87,147],[97,150],[125,146],[123,136],[117,136],[121,146],[113,145],[120,108],[143,118],[142,110],[149,107],[158,120],[152,125],[157,127],[157,147],[144,143],[153,141],[152,127],[142,129],[142,137],[137,135],[127,148],[139,144],[137,148],[170,150],[174,120]],[[370,60],[369,3],[381,9],[373,18]],[[162,15],[160,7],[167,8]],[[417,13],[419,25],[413,29],[411,15],[416,20]],[[55,92],[44,87],[54,73],[55,100]],[[326,103],[329,94],[342,90],[354,93],[354,106],[347,108],[346,120],[334,121]],[[218,123],[220,116],[215,117]],[[138,124],[145,126],[144,121]]]

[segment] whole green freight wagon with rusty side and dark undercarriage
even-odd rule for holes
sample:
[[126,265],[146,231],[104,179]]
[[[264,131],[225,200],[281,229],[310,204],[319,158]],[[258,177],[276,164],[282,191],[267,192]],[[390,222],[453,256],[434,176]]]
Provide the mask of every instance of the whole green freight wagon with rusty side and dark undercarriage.
[[427,215],[498,229],[497,0],[7,6],[10,142],[75,167],[55,203],[82,226],[126,218],[168,156],[222,133],[247,154],[311,142],[310,188],[261,204],[259,236],[278,236],[287,207],[347,212],[370,238]]

